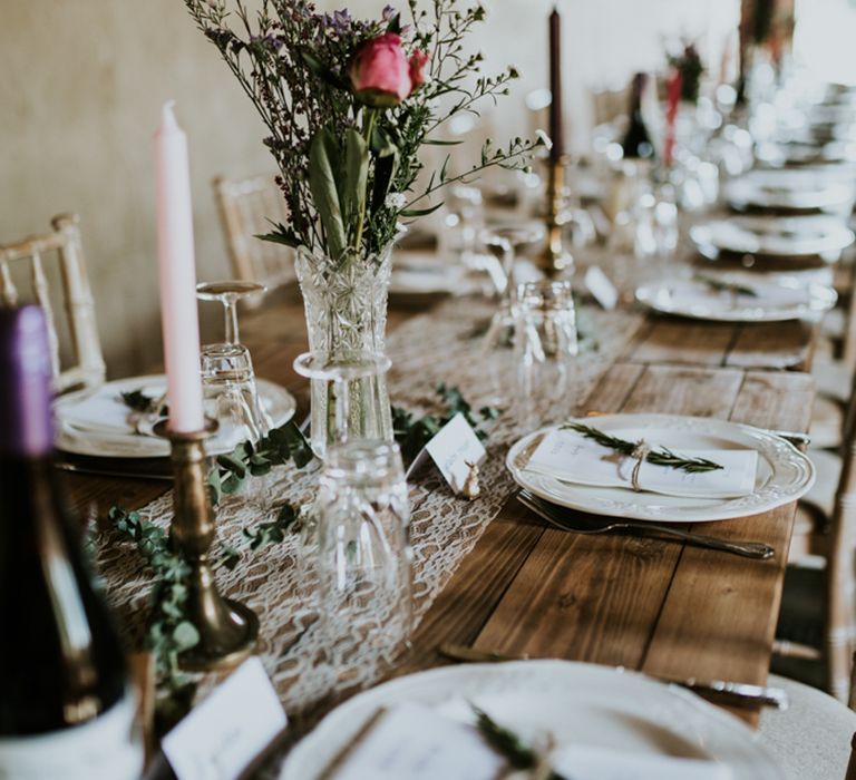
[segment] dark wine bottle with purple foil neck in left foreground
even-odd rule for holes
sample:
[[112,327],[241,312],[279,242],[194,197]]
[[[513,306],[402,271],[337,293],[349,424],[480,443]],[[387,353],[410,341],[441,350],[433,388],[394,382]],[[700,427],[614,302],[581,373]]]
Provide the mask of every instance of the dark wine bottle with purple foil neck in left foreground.
[[0,780],[136,780],[136,696],[52,462],[40,308],[0,309]]

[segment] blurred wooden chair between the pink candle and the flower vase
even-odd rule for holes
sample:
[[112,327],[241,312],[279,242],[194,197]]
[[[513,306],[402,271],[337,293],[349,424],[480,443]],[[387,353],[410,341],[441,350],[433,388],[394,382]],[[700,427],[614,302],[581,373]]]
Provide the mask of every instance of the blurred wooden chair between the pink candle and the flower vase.
[[[293,250],[255,237],[270,233],[271,222],[284,222],[288,216],[273,175],[243,179],[218,176],[213,185],[235,277],[264,284],[269,291],[293,282]],[[261,298],[247,300],[251,306],[260,303]]]

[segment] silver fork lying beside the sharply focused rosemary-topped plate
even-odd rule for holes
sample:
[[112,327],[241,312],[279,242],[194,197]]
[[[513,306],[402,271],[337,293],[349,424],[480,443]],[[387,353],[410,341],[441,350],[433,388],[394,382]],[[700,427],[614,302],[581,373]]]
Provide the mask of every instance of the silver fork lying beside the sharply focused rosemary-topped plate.
[[626,523],[622,520],[607,521],[604,525],[590,525],[584,520],[574,523],[565,515],[565,513],[560,511],[547,501],[533,496],[528,490],[519,490],[516,498],[523,506],[527,509],[532,509],[532,511],[545,519],[552,526],[561,528],[562,530],[570,530],[574,534],[609,534],[620,530],[632,530],[642,536],[665,536],[671,539],[688,542],[697,547],[706,547],[708,549],[718,549],[723,553],[741,555],[745,558],[767,560],[776,554],[776,550],[770,547],[770,545],[763,544],[762,542],[726,542],[716,536],[692,534],[672,526],[655,525],[652,523]]

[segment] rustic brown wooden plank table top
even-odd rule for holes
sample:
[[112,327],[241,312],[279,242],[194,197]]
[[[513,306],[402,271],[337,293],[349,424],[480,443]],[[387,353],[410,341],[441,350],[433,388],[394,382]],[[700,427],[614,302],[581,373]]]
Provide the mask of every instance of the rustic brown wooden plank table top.
[[[390,311],[389,326],[412,314]],[[300,387],[292,361],[305,350],[296,299],[243,316],[242,340],[260,376]],[[651,318],[590,396],[588,410],[710,416],[804,431],[814,383],[814,329],[719,326]],[[789,355],[782,363],[782,355]],[[301,412],[304,410],[301,410]],[[79,509],[139,507],[157,480],[67,475]],[[673,542],[580,536],[546,527],[509,498],[420,623],[397,673],[444,663],[444,642],[622,665],[682,679],[762,684],[771,654],[795,506],[693,529],[772,545],[751,560]],[[309,728],[331,703],[301,719]],[[748,722],[753,715],[739,713]],[[300,727],[299,727],[300,728]]]

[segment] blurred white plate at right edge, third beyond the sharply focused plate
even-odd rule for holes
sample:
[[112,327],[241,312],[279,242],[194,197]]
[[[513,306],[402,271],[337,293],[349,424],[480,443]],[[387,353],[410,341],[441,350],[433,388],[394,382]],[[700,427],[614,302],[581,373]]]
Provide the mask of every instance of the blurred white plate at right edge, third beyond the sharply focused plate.
[[817,169],[751,170],[726,185],[726,199],[738,211],[778,208],[792,212],[853,208],[853,185]]

